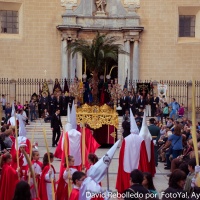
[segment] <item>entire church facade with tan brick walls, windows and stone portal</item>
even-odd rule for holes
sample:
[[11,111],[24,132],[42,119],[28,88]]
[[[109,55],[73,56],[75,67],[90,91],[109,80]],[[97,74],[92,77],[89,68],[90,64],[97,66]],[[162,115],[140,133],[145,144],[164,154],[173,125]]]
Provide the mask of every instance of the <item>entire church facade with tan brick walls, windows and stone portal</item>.
[[198,0],[0,0],[1,77],[82,77],[66,48],[97,31],[119,38],[118,80],[190,80],[200,73]]

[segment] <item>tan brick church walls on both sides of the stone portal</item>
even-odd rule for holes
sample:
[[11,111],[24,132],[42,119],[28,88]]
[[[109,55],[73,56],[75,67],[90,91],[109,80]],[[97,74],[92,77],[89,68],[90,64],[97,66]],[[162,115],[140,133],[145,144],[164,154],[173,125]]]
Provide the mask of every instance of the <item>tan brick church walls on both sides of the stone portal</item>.
[[[1,2],[10,2],[4,0]],[[20,34],[0,34],[0,74],[5,78],[60,78],[61,36],[65,8],[60,0],[21,3]],[[198,0],[141,0],[144,26],[140,42],[140,79],[186,79],[200,74],[200,40],[178,38],[178,8],[200,6]],[[1,9],[1,4],[0,4]],[[190,9],[193,9],[191,7]],[[191,11],[192,12],[192,11]],[[200,14],[198,14],[200,17]],[[198,29],[197,29],[198,32]]]

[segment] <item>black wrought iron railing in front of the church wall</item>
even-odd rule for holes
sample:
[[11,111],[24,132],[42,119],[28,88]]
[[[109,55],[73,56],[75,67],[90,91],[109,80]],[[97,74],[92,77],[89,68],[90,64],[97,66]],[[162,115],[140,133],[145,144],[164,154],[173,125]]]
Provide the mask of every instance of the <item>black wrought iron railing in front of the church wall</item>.
[[[61,89],[64,90],[65,79],[58,79]],[[67,79],[68,87],[72,84],[73,79]],[[13,81],[12,81],[13,82]],[[27,79],[19,78],[15,82],[15,99],[21,104],[25,101],[29,101],[33,93],[40,94],[42,89],[42,84],[44,79]],[[54,81],[49,82],[53,88],[55,84]],[[137,83],[151,83],[156,85],[155,82],[149,80],[129,80],[127,87],[130,85],[137,91]],[[183,103],[184,106],[188,107],[188,88],[189,82],[186,80],[160,80],[157,83],[163,83],[167,85],[167,101],[170,102],[171,98],[175,98],[180,104]],[[122,86],[123,87],[123,86]],[[195,81],[196,87],[196,108],[200,112],[200,80]],[[53,92],[50,89],[50,93]],[[154,88],[155,90],[155,88]],[[7,99],[10,96],[10,80],[8,78],[0,78],[0,97],[2,94],[5,95]]]

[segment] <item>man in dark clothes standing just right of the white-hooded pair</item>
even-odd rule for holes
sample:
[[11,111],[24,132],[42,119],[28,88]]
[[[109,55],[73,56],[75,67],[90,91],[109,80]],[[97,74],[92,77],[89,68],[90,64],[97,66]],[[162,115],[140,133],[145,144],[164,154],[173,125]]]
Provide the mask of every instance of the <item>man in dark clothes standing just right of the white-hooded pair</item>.
[[160,139],[160,128],[157,127],[155,119],[151,118],[149,120],[150,125],[148,126],[149,132],[151,133],[153,143],[154,143],[154,156],[155,156],[155,165],[158,166],[158,140]]

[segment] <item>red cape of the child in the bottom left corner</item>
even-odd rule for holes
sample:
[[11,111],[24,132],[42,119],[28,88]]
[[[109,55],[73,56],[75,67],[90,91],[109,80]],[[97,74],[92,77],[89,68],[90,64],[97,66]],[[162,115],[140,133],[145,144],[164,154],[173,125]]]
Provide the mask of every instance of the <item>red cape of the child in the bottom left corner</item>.
[[8,163],[5,163],[2,167],[0,179],[0,199],[12,200],[15,187],[18,183],[18,174]]

